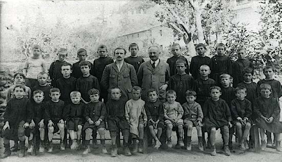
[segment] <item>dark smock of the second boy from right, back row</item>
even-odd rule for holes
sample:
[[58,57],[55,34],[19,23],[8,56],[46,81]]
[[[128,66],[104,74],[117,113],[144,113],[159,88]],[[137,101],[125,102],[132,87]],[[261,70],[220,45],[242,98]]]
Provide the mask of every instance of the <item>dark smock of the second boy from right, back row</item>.
[[220,85],[220,75],[229,74],[232,75],[232,64],[228,56],[218,56],[215,55],[210,59],[209,64],[211,73],[210,78],[212,78],[216,85]]

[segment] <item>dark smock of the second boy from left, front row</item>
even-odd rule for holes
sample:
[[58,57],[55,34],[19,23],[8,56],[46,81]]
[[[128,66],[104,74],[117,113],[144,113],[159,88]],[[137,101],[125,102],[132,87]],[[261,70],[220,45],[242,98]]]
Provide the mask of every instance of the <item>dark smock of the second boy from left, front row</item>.
[[39,128],[38,123],[45,119],[45,104],[43,102],[36,103],[33,99],[29,100],[27,103],[27,120],[26,122],[31,123],[31,120],[34,121],[34,128],[26,128],[25,135],[30,136],[30,132],[35,134]]

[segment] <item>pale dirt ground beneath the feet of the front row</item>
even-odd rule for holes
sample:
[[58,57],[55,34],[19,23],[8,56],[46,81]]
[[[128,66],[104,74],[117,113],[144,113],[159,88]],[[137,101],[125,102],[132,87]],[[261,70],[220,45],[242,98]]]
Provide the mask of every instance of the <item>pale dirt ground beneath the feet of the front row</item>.
[[[107,133],[106,138],[110,135]],[[233,137],[234,138],[234,137]],[[27,155],[23,158],[17,157],[14,152],[11,156],[0,159],[1,162],[15,162],[15,161],[282,161],[282,152],[276,152],[275,149],[267,148],[266,151],[261,153],[255,153],[254,151],[242,152],[237,149],[238,145],[233,139],[233,147],[235,148],[231,151],[231,156],[226,156],[223,154],[221,149],[222,139],[220,131],[216,132],[216,150],[218,152],[217,156],[211,156],[210,150],[205,149],[204,152],[198,150],[198,139],[196,129],[192,132],[192,151],[186,151],[182,149],[176,149],[176,133],[172,133],[173,148],[167,150],[159,149],[156,150],[152,147],[148,147],[148,154],[135,153],[132,156],[124,156],[122,148],[119,148],[119,155],[117,157],[111,157],[111,141],[106,141],[106,148],[109,152],[108,154],[101,154],[100,149],[92,149],[92,152],[88,156],[82,156],[83,150],[73,151],[66,148],[64,151],[59,150],[59,145],[55,145],[53,153],[40,154],[37,156]],[[98,142],[99,144],[99,142]],[[12,146],[12,145],[11,145]],[[4,152],[3,139],[0,140],[0,153]]]

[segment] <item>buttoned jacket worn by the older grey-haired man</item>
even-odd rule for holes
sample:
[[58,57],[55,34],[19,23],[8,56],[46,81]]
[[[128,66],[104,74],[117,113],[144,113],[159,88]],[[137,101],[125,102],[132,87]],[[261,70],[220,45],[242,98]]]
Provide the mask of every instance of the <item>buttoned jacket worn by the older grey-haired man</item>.
[[141,64],[138,70],[137,78],[142,88],[142,99],[147,101],[147,91],[155,88],[159,91],[159,99],[165,101],[165,90],[159,89],[162,85],[168,84],[170,77],[169,65],[160,60],[158,65],[153,68],[150,61]]

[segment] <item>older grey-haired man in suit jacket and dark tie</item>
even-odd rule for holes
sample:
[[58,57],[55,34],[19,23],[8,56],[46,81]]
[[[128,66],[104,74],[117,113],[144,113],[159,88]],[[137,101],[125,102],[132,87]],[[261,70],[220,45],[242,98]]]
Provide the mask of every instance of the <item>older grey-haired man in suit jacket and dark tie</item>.
[[142,88],[142,99],[148,99],[147,90],[155,88],[159,92],[159,99],[165,102],[165,91],[170,77],[169,65],[159,59],[161,54],[158,45],[151,45],[148,48],[149,61],[141,64],[137,78]]

